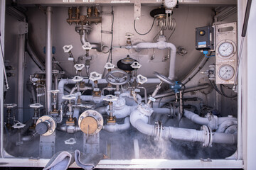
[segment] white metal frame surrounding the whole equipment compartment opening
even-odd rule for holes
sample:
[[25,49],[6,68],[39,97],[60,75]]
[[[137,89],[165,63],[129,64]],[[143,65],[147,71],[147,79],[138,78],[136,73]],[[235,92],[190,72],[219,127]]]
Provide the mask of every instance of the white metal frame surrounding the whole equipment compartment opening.
[[[184,0],[185,1],[185,0]],[[181,1],[180,4],[189,4],[184,1]],[[19,1],[19,4],[23,5],[33,5],[33,0],[23,0]],[[131,0],[130,3],[133,4],[134,0]],[[246,1],[238,0],[238,35],[241,32],[242,28],[242,11],[245,9]],[[254,3],[254,4],[253,4]],[[256,11],[255,1],[252,1],[252,9],[251,11]],[[5,1],[1,1],[1,42],[4,42],[4,18],[5,18]],[[38,0],[37,4],[41,5],[66,5],[60,0]],[[67,3],[68,5],[91,5],[90,3],[82,3],[82,0],[76,0],[75,3]],[[95,4],[105,4],[111,5],[111,0],[106,0],[104,3],[100,0],[95,0]],[[124,4],[121,1],[115,4]],[[159,5],[161,3],[156,3],[153,0],[142,1],[142,4],[156,4]],[[193,4],[193,3],[191,3]],[[196,3],[195,3],[196,4]],[[200,0],[197,4],[209,4],[209,5],[235,5],[236,1],[228,0],[228,1],[202,1]],[[251,16],[252,13],[251,13]],[[249,22],[251,25],[248,26],[248,44],[251,42],[251,45],[248,45],[248,50],[246,50],[247,44],[244,46],[244,60],[241,63],[240,67],[240,75],[239,75],[239,89],[238,89],[238,160],[235,159],[188,159],[188,160],[168,160],[168,159],[131,159],[131,160],[113,160],[113,159],[105,159],[100,161],[100,163],[96,166],[96,168],[245,168],[245,169],[253,169],[255,167],[256,152],[253,151],[252,148],[255,147],[254,141],[256,140],[256,135],[254,132],[255,127],[255,96],[256,91],[254,84],[256,84],[256,80],[254,79],[255,66],[253,63],[256,63],[253,50],[253,43],[255,42],[254,38],[256,36],[253,27],[255,27],[256,23]],[[240,40],[238,39],[238,42]],[[4,48],[4,43],[2,44]],[[238,45],[239,46],[239,45]],[[4,49],[3,49],[4,50]],[[248,55],[247,55],[248,53]],[[246,58],[247,56],[247,58]],[[3,66],[0,65],[0,68]],[[243,70],[243,68],[247,68],[247,70]],[[247,75],[242,77],[242,75]],[[3,88],[4,88],[4,75],[0,74],[0,95],[3,96]],[[242,89],[243,87],[243,89]],[[248,92],[250,91],[250,93]],[[0,112],[1,112],[1,156],[3,157],[3,98],[0,98]],[[243,99],[243,100],[242,100]],[[243,114],[242,114],[243,113]],[[248,137],[250,134],[250,138]],[[243,152],[242,152],[243,151]],[[242,160],[243,158],[243,160]],[[30,167],[43,167],[48,163],[49,159],[11,159],[11,158],[1,158],[0,166],[30,166]],[[15,162],[15,163],[14,163]],[[78,167],[76,164],[73,164],[70,167]]]

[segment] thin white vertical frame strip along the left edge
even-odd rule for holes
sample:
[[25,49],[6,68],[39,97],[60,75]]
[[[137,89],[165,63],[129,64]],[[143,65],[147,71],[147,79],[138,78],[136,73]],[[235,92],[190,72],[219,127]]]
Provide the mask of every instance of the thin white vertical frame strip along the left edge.
[[[4,26],[5,26],[5,11],[6,11],[6,1],[0,1],[0,31],[1,31],[1,37],[0,37],[0,41],[1,41],[1,46],[2,46],[2,52],[4,54]],[[1,55],[1,57],[4,56]],[[4,64],[4,63],[3,63]],[[3,70],[4,69],[4,65],[0,65],[0,69]],[[3,72],[1,72],[0,74],[0,120],[1,120],[1,126],[0,126],[0,130],[1,130],[1,157],[4,156],[3,151],[4,151],[4,74]]]

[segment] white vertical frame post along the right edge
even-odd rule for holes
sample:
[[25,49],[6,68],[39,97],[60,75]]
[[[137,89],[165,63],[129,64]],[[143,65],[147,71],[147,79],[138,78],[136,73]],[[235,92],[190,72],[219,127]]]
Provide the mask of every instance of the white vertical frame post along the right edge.
[[[246,4],[242,4],[244,9]],[[256,162],[256,152],[255,152],[255,102],[256,102],[256,91],[255,91],[255,16],[256,16],[256,1],[252,1],[252,6],[250,9],[250,18],[247,27],[247,38],[245,38],[245,43],[243,47],[242,63],[240,63],[240,77],[242,77],[242,87],[245,88],[242,92],[242,120],[243,127],[242,130],[244,135],[242,139],[242,158],[245,160],[245,169],[255,169]],[[242,67],[241,67],[242,66]],[[243,105],[244,104],[244,105]]]

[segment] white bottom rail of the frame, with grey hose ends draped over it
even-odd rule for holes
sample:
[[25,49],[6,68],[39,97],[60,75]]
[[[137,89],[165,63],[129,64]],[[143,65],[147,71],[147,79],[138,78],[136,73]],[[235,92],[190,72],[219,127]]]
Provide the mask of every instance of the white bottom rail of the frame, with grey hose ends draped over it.
[[[0,159],[0,166],[27,166],[44,167],[49,159]],[[15,162],[15,164],[14,164]],[[77,164],[72,164],[70,168],[80,168]],[[97,164],[100,169],[170,169],[170,168],[243,168],[242,160],[230,159],[202,159],[202,160],[168,160],[168,159],[130,159],[113,160],[104,159]]]

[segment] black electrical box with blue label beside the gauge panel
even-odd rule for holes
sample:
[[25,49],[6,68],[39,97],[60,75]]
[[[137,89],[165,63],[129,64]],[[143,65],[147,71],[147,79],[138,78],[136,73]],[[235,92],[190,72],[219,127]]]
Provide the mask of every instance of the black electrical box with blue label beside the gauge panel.
[[213,27],[196,28],[196,50],[214,50]]

